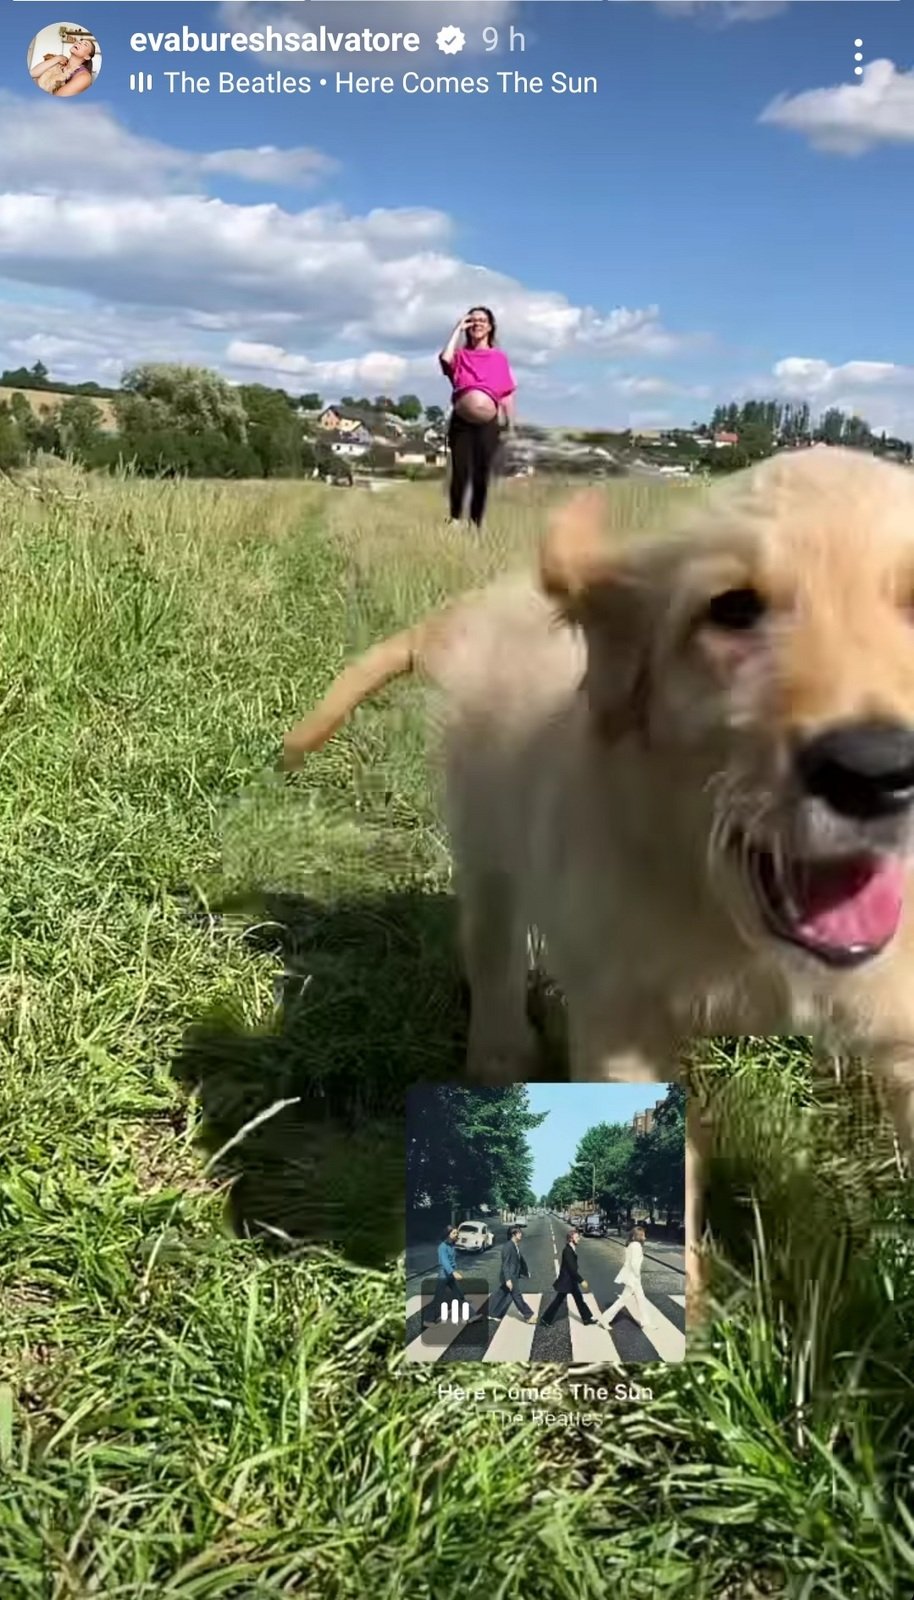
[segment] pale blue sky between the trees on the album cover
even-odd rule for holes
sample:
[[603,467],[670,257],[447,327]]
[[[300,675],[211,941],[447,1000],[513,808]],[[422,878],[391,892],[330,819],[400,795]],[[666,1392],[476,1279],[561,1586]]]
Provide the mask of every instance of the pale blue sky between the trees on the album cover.
[[631,1123],[635,1110],[656,1106],[667,1091],[667,1083],[530,1083],[530,1109],[549,1112],[546,1122],[528,1134],[535,1195],[547,1194],[555,1179],[568,1171],[587,1128],[600,1122]]

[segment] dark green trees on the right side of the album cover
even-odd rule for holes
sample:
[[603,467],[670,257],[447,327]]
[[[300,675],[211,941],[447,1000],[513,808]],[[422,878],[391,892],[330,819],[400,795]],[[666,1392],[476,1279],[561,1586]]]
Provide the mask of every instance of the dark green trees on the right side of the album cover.
[[634,1206],[663,1211],[682,1221],[685,1203],[685,1093],[674,1083],[655,1109],[650,1133],[629,1123],[597,1123],[587,1128],[568,1171],[555,1179],[544,1205],[567,1211],[594,1200],[608,1216],[626,1216]]

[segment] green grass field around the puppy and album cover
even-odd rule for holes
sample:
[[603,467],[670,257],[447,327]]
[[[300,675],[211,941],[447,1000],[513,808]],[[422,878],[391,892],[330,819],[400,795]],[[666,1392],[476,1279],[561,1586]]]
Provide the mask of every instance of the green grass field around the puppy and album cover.
[[402,1363],[402,1096],[464,1037],[416,691],[275,758],[543,515],[0,483],[3,1600],[914,1592],[912,1186],[800,1043],[698,1062],[746,1131],[719,1317],[650,1403],[507,1424]]

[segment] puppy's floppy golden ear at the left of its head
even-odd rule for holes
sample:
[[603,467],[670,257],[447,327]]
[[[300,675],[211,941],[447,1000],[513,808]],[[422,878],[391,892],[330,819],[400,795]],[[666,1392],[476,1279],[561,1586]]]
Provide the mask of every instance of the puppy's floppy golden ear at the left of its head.
[[576,494],[555,515],[539,552],[539,582],[560,614],[583,629],[583,688],[605,736],[645,728],[656,582],[651,546],[618,546],[605,533],[600,490]]

